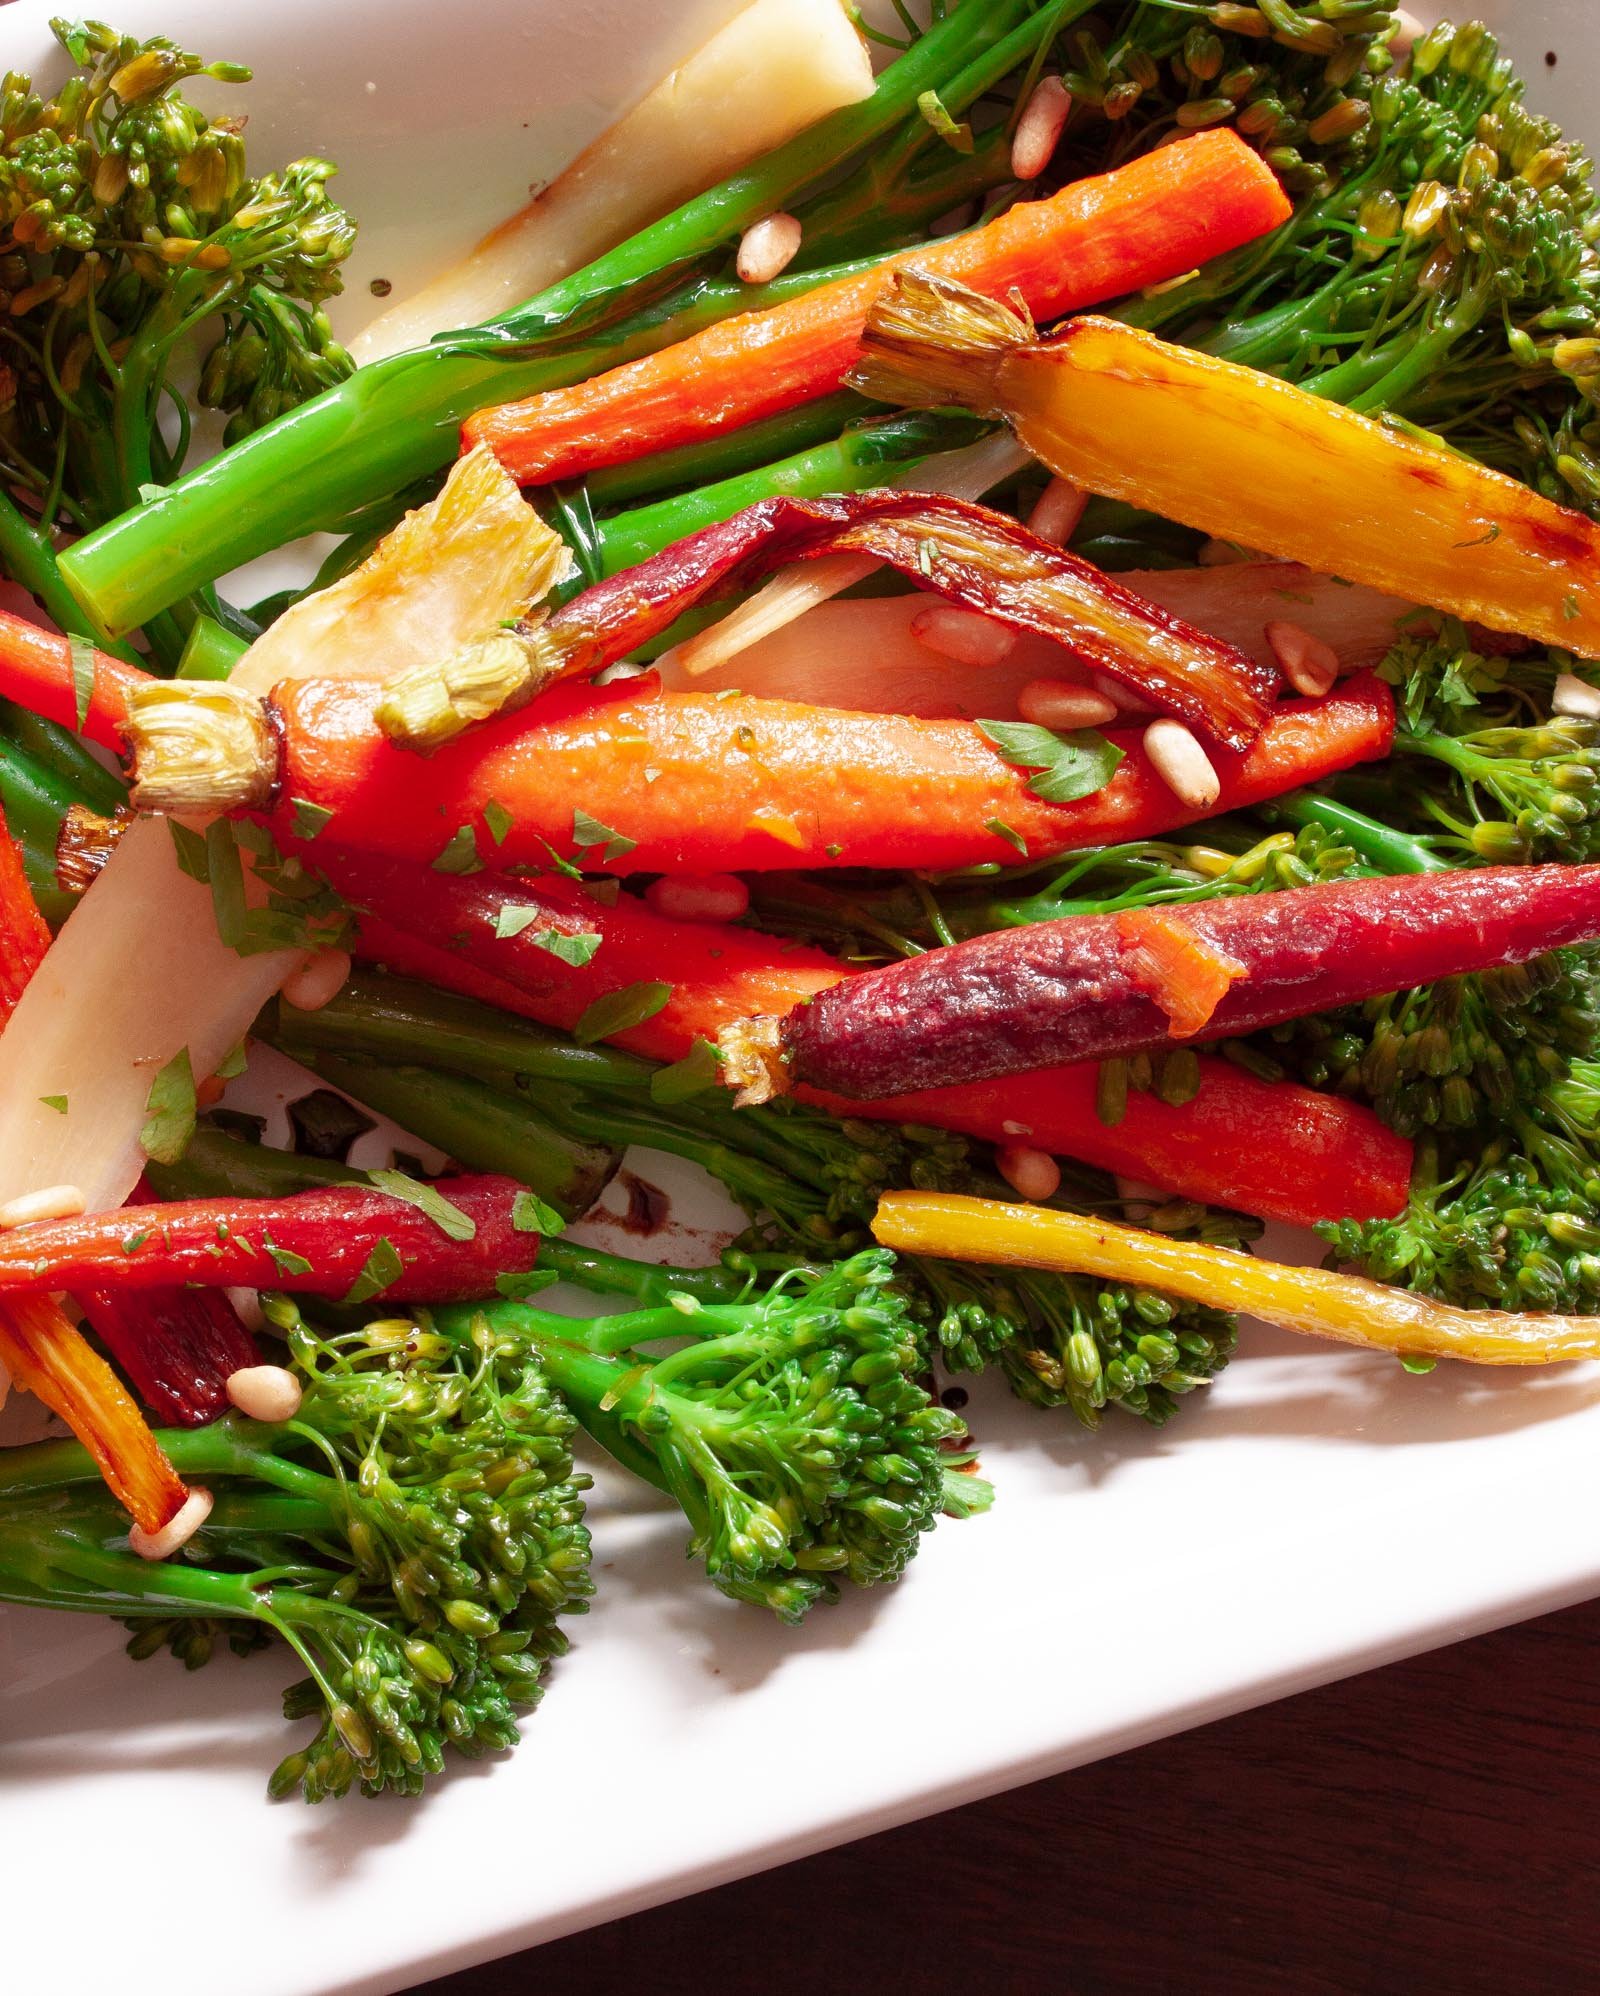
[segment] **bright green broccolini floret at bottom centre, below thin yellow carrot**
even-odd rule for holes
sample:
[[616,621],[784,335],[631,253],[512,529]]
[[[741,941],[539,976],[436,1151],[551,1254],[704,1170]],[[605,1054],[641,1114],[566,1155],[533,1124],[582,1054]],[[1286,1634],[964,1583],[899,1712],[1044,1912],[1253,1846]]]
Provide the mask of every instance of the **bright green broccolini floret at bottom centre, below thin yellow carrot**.
[[784,1621],[834,1599],[838,1579],[898,1579],[946,1507],[964,1423],[922,1383],[882,1249],[794,1267],[740,1303],[678,1295],[589,1323],[489,1303],[437,1321],[535,1353],[589,1433],[682,1509],[722,1593]]

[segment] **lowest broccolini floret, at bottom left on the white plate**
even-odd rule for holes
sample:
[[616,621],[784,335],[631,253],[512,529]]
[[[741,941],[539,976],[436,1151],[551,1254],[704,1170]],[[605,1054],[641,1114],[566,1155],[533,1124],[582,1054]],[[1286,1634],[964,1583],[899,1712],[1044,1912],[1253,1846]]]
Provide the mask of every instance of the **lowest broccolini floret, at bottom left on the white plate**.
[[0,1451],[0,1599],[128,1617],[134,1655],[166,1641],[190,1665],[265,1631],[307,1671],[287,1717],[315,1719],[271,1792],[415,1794],[449,1748],[515,1743],[593,1591],[575,1421],[527,1351],[275,1307],[301,1411],[162,1435],[215,1499],[172,1559],[126,1549],[76,1443]]

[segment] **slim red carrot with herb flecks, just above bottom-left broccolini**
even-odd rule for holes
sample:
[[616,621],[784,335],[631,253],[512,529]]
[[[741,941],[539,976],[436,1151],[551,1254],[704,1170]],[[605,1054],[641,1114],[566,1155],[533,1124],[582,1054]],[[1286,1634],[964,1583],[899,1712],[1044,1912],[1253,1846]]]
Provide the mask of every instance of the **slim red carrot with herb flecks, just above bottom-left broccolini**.
[[176,1200],[0,1234],[0,1291],[160,1289],[198,1281],[363,1301],[461,1303],[539,1253],[513,1178],[405,1190],[333,1186],[283,1200]]

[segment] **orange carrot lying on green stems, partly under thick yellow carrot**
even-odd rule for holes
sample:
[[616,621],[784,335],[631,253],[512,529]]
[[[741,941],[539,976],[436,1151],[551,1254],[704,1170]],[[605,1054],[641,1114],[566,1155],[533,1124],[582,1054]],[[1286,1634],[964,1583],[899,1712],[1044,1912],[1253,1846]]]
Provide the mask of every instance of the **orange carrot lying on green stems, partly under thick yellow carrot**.
[[523,485],[579,477],[832,393],[898,265],[960,277],[996,297],[1015,289],[1037,319],[1055,319],[1181,277],[1289,214],[1271,170],[1243,140],[1203,132],[577,387],[485,409],[465,423],[463,439],[489,443]]

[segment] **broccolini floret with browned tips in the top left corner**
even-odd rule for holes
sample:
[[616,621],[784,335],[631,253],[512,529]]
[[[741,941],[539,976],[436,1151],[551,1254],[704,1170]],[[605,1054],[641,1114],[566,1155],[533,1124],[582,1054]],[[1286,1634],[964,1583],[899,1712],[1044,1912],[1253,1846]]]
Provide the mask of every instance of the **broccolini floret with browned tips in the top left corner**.
[[[201,355],[200,395],[227,441],[341,381],[349,355],[323,303],[355,226],[329,198],[327,160],[251,176],[241,120],[186,102],[201,62],[164,36],[56,22],[76,74],[42,98],[0,96],[0,555],[68,629],[80,613],[50,557],[56,525],[86,533],[184,469],[190,411],[174,371]],[[164,423],[176,415],[176,427]],[[154,641],[180,633],[158,621]],[[168,657],[168,665],[176,663]]]

